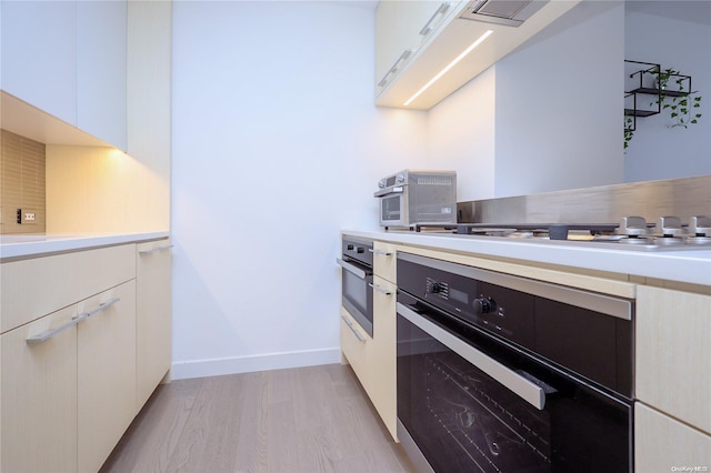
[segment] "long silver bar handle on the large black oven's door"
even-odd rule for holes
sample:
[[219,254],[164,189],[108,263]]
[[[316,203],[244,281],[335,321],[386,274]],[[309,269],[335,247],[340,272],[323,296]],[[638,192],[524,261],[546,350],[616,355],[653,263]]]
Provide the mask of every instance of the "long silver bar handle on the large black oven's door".
[[447,330],[424,319],[402,302],[398,302],[398,314],[402,315],[429,335],[433,336],[437,341],[444,344],[448,349],[452,350],[479,370],[497,380],[533,407],[542,411],[545,406],[545,392],[541,386],[527,380],[491,356],[485,355],[481,351],[452,335]]

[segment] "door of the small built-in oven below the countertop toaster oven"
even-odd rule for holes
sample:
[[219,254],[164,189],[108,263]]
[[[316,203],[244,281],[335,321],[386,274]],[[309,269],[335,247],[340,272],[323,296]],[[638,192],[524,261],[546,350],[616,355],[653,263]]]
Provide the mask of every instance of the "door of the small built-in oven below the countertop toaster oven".
[[370,336],[373,336],[373,271],[358,261],[337,259],[341,271],[341,303]]

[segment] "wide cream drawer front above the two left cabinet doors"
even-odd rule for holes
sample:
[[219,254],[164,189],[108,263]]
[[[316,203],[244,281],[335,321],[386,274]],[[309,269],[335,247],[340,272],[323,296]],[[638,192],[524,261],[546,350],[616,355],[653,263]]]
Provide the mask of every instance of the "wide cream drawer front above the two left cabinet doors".
[[2,263],[0,332],[136,278],[136,244]]

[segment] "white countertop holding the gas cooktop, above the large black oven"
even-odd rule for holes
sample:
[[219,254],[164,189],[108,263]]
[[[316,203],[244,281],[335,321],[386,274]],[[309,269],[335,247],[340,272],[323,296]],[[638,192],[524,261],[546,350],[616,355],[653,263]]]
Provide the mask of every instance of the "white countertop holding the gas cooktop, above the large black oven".
[[[341,233],[437,250],[561,264],[711,286],[711,248],[650,251],[629,246],[620,249],[622,245],[615,243],[590,245],[573,241],[518,240],[433,232],[343,230]],[[612,245],[615,248],[608,248]]]

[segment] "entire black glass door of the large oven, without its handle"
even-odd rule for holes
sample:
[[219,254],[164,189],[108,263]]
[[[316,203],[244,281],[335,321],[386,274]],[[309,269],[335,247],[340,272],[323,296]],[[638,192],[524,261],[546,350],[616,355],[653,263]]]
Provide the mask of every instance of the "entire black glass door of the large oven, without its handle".
[[538,410],[400,315],[397,350],[398,420],[435,472],[631,471],[631,406],[512,355],[550,383]]

